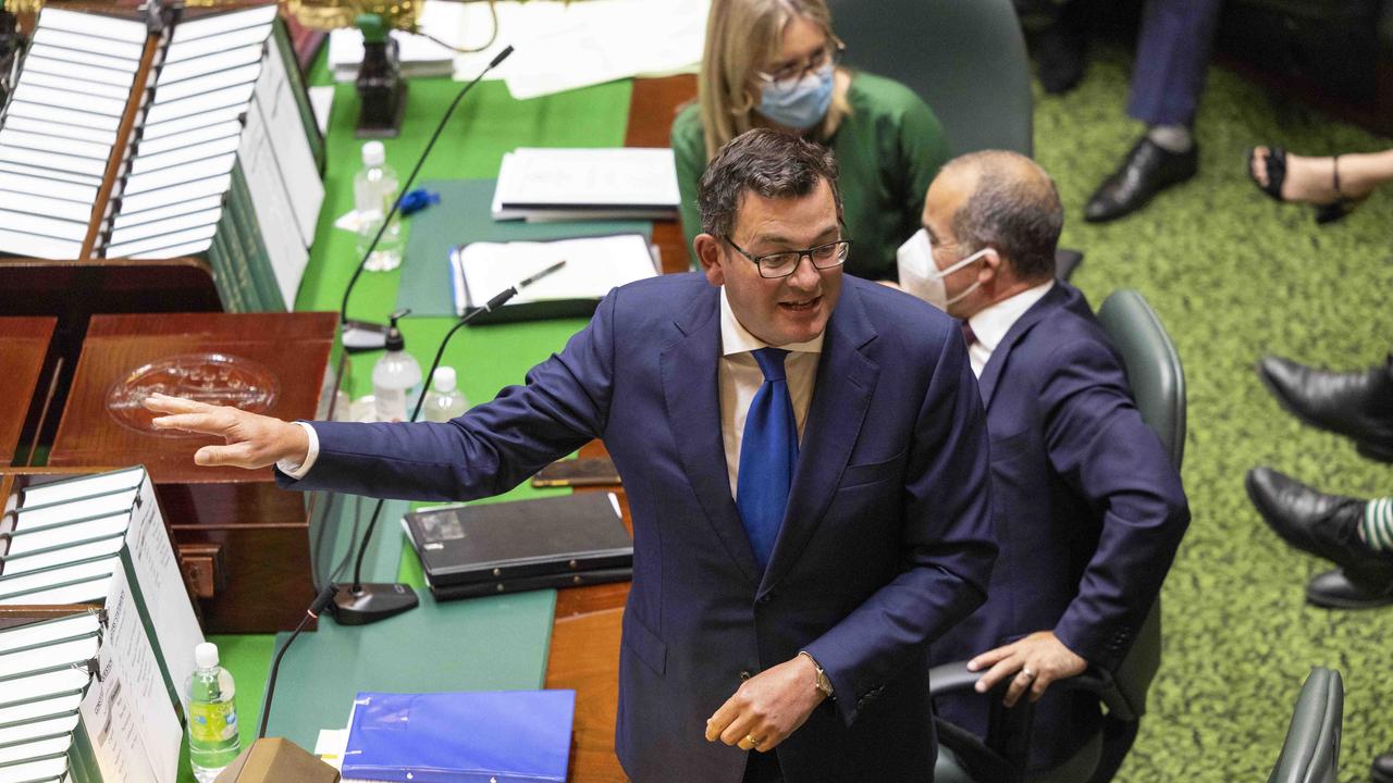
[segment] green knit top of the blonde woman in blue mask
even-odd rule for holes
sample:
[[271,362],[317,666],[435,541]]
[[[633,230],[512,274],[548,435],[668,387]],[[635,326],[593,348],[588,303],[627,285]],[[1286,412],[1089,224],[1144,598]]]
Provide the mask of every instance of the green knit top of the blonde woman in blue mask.
[[[894,251],[919,230],[924,194],[947,162],[947,141],[933,111],[900,82],[853,72],[847,102],[851,113],[829,144],[840,171],[846,237],[854,241],[846,270],[871,280],[896,280]],[[671,145],[683,233],[691,251],[701,233],[696,183],[706,170],[706,135],[695,103],[673,121]]]

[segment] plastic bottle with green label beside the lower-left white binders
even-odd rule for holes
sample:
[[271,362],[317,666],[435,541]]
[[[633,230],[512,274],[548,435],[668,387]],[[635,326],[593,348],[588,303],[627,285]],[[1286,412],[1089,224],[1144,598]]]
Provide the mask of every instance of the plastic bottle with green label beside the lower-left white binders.
[[194,648],[194,663],[198,669],[188,685],[188,758],[198,783],[212,783],[242,751],[237,685],[217,665],[216,644]]

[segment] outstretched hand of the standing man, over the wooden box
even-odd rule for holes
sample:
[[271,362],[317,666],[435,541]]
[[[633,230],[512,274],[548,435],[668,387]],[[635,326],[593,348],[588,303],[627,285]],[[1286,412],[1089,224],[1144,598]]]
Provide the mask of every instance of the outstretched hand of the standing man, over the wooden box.
[[150,422],[156,429],[198,432],[226,442],[226,446],[203,446],[195,451],[194,463],[199,465],[255,470],[287,458],[304,463],[309,456],[309,436],[297,424],[157,393],[146,397],[143,405],[164,414]]

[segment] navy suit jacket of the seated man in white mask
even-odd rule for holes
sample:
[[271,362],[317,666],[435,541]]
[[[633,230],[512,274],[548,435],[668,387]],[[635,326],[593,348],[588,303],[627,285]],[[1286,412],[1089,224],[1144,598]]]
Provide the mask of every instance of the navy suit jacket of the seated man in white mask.
[[[1053,630],[1114,670],[1156,600],[1190,524],[1180,475],[1133,403],[1121,358],[1084,295],[1056,281],[982,369],[1000,556],[986,603],[933,644],[935,665]],[[986,734],[988,701],[936,702]],[[1032,765],[1055,765],[1099,727],[1098,699],[1046,691]]]

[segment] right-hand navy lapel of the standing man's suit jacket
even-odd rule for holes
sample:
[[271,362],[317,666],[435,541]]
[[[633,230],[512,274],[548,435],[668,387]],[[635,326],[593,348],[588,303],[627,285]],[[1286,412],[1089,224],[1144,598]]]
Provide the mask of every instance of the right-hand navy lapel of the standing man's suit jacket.
[[855,288],[843,281],[841,302],[827,323],[827,336],[822,343],[798,467],[788,492],[788,510],[759,587],[761,595],[779,584],[798,561],[832,503],[880,373],[879,365],[861,354],[861,347],[875,336]]

